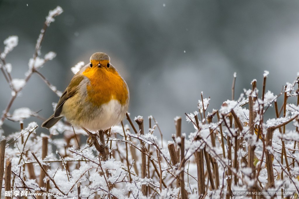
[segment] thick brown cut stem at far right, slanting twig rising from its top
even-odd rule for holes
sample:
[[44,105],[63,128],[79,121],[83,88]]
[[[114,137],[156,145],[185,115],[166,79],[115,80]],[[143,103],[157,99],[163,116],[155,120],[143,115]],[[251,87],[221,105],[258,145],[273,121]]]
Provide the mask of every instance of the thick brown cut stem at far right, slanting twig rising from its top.
[[274,128],[269,127],[267,129],[267,136],[266,136],[266,166],[267,166],[267,173],[268,173],[268,183],[270,188],[275,188],[274,183],[274,174],[273,174],[273,166],[272,166],[272,154],[269,151],[268,147],[272,147],[272,135],[273,135]]

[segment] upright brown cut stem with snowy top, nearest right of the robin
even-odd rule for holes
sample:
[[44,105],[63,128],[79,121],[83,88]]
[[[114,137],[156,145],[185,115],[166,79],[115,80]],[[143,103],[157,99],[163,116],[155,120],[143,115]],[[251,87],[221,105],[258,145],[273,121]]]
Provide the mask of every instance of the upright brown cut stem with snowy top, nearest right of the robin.
[[[144,135],[144,128],[143,128],[143,118],[137,118],[135,122],[138,124],[139,132],[141,135]],[[140,140],[141,144],[141,178],[146,178],[147,176],[147,159],[145,156],[145,146],[144,141]],[[144,196],[147,195],[146,185],[141,185],[141,192]]]

